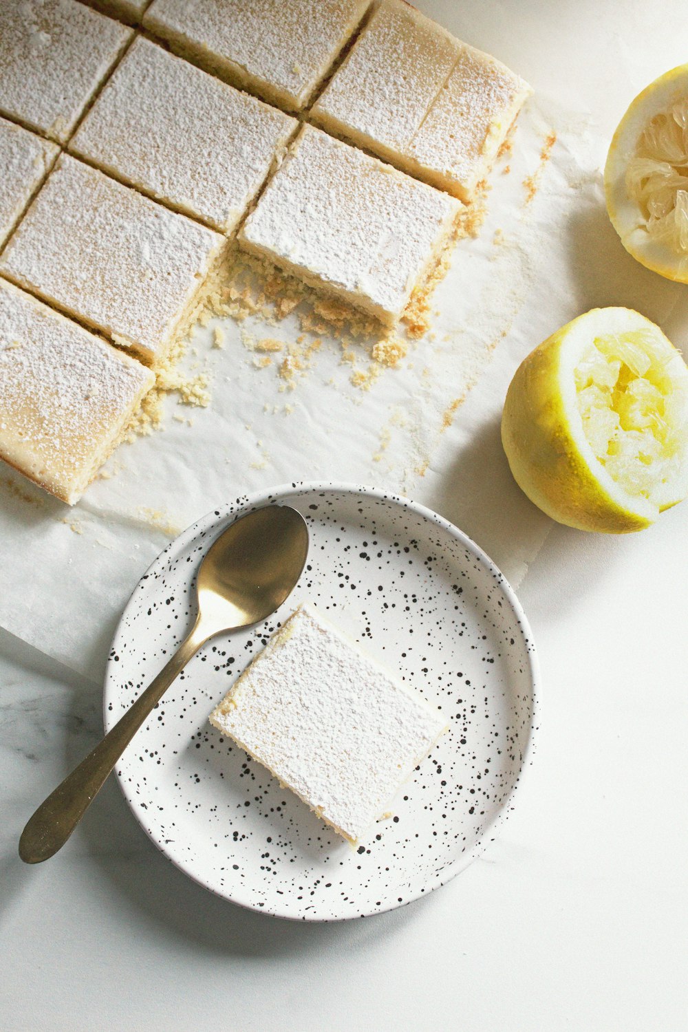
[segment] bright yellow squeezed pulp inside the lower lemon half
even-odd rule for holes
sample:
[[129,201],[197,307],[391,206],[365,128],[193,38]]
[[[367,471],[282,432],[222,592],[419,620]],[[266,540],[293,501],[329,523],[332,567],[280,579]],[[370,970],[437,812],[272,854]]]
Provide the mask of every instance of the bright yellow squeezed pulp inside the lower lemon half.
[[[687,181],[688,182],[688,181]],[[576,366],[578,410],[596,458],[629,494],[660,508],[687,461],[688,387],[646,330],[595,337]]]

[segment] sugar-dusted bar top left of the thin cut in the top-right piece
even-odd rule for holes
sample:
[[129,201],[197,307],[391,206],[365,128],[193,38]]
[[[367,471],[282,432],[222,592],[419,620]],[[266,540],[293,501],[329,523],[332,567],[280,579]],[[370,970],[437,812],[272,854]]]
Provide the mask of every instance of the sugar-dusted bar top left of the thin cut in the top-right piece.
[[386,147],[405,149],[461,43],[415,8],[381,4],[314,107]]

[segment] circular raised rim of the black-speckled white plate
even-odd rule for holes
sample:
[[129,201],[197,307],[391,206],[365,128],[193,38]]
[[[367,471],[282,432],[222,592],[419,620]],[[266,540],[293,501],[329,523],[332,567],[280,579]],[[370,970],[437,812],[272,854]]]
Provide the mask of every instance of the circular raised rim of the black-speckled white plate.
[[[218,506],[209,510],[203,516],[199,517],[199,519],[195,520],[188,527],[186,527],[186,529],[184,529],[181,534],[178,534],[176,538],[173,538],[172,541],[168,542],[165,548],[163,548],[158,553],[153,562],[151,562],[146,568],[146,570],[141,574],[139,580],[137,581],[134,589],[132,590],[127,601],[127,604],[122,610],[120,619],[118,620],[118,624],[114,630],[114,634],[112,635],[112,639],[110,641],[110,648],[107,654],[105,675],[103,679],[103,725],[105,732],[109,731],[108,717],[111,716],[107,708],[108,703],[111,701],[110,699],[108,699],[108,688],[110,688],[110,686],[113,685],[113,683],[117,680],[117,678],[112,676],[114,674],[116,668],[121,669],[119,667],[119,664],[116,664],[113,658],[114,654],[118,654],[116,645],[119,642],[124,621],[130,609],[134,605],[139,590],[142,590],[141,585],[143,584],[144,581],[149,579],[154,568],[157,567],[159,562],[164,561],[164,557],[170,554],[174,549],[185,548],[187,544],[191,540],[193,540],[194,537],[196,537],[199,530],[207,530],[212,526],[214,523],[219,523],[223,519],[225,519],[228,515],[225,511],[228,506],[231,505],[237,506],[238,512],[236,513],[236,518],[238,518],[239,515],[243,515],[244,513],[250,512],[252,509],[255,509],[258,506],[275,505],[279,504],[280,502],[288,503],[290,496],[297,494],[300,495],[310,492],[315,493],[319,491],[321,492],[337,491],[343,494],[360,494],[366,497],[373,497],[373,498],[379,498],[383,502],[389,502],[393,505],[399,506],[402,509],[409,509],[413,512],[417,513],[418,515],[422,516],[424,519],[427,519],[430,522],[434,523],[436,526],[439,526],[443,530],[449,534],[450,537],[457,540],[463,547],[465,547],[469,552],[471,552],[473,557],[481,563],[481,566],[485,567],[486,570],[494,577],[499,589],[502,591],[509,605],[512,608],[512,611],[514,612],[514,615],[517,618],[521,638],[525,645],[526,660],[528,665],[527,673],[529,675],[529,683],[530,683],[530,703],[531,703],[528,739],[522,754],[522,760],[518,775],[516,777],[516,780],[514,782],[511,792],[509,793],[507,796],[504,797],[499,807],[499,810],[497,811],[496,815],[492,818],[492,820],[486,825],[485,830],[483,834],[480,836],[480,838],[477,839],[477,841],[472,844],[470,849],[467,849],[466,852],[463,853],[462,856],[457,857],[457,859],[452,864],[444,868],[439,874],[429,878],[425,882],[424,886],[422,886],[415,895],[405,898],[403,903],[392,902],[388,907],[375,908],[374,910],[368,910],[366,912],[358,911],[356,913],[345,913],[345,914],[337,914],[334,916],[310,914],[310,913],[296,915],[294,913],[281,911],[279,905],[277,906],[266,905],[264,907],[257,907],[255,904],[251,903],[248,899],[240,899],[237,898],[235,895],[228,895],[226,892],[222,892],[220,889],[217,889],[214,885],[208,884],[207,880],[204,879],[201,875],[199,875],[195,871],[190,870],[189,867],[185,864],[185,862],[181,858],[177,859],[176,857],[170,856],[170,853],[165,848],[163,848],[163,846],[154,838],[152,832],[145,827],[145,825],[140,819],[133,798],[130,799],[127,794],[125,787],[126,782],[121,777],[120,763],[116,764],[113,770],[117,776],[117,782],[120,785],[122,795],[124,796],[125,801],[129,809],[131,810],[132,815],[136,819],[137,824],[144,831],[144,833],[146,834],[149,839],[153,842],[155,847],[159,850],[159,852],[161,852],[166,858],[166,860],[168,860],[171,864],[173,864],[178,870],[181,870],[184,874],[190,877],[193,881],[195,881],[197,884],[201,885],[208,892],[212,893],[215,896],[218,896],[220,899],[233,903],[236,906],[241,906],[245,909],[252,910],[254,913],[262,913],[269,916],[281,917],[286,921],[296,921],[296,922],[307,921],[319,924],[325,924],[330,922],[354,921],[360,917],[374,916],[375,914],[379,913],[386,913],[389,910],[399,909],[402,906],[406,906],[409,903],[413,903],[414,901],[422,898],[423,896],[429,895],[435,889],[439,889],[448,881],[451,881],[452,878],[456,877],[457,874],[460,874],[461,871],[464,871],[476,859],[478,859],[478,857],[480,857],[485,851],[490,842],[493,842],[495,840],[504,821],[507,819],[510,813],[512,813],[512,811],[514,810],[514,800],[517,796],[517,793],[520,793],[521,791],[521,784],[524,775],[528,770],[528,768],[532,765],[533,757],[535,754],[535,738],[539,728],[538,718],[539,718],[540,672],[539,672],[539,662],[537,657],[537,651],[535,649],[535,644],[532,637],[530,623],[528,622],[528,618],[523,610],[523,607],[521,606],[521,603],[516,594],[515,589],[506,580],[506,578],[499,570],[497,565],[489,557],[489,555],[487,555],[487,553],[480,547],[480,545],[478,545],[471,538],[469,538],[468,535],[465,534],[465,531],[461,530],[460,527],[456,526],[456,524],[452,523],[444,516],[440,516],[439,513],[436,513],[432,509],[429,509],[427,506],[422,505],[420,502],[414,502],[412,498],[408,498],[403,494],[397,494],[394,491],[386,490],[381,487],[369,487],[365,484],[356,484],[350,481],[329,481],[329,480],[292,481],[289,483],[279,484],[276,487],[272,487],[269,489],[254,491],[251,492],[250,494],[245,495],[239,494],[237,496],[236,502],[234,503],[225,502],[221,506]],[[245,501],[241,502],[242,498],[245,498]]]

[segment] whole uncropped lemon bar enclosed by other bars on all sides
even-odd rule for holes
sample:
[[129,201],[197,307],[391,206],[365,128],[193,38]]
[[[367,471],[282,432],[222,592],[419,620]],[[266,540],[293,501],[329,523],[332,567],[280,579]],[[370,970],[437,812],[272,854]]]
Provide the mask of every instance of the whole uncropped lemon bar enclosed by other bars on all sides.
[[297,122],[138,37],[70,151],[230,232]]

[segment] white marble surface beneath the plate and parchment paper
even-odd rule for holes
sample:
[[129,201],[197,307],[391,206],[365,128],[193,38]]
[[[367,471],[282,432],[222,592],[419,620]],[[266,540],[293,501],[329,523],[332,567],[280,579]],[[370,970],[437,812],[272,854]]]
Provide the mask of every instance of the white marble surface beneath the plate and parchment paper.
[[[605,133],[686,60],[685,0],[420,5]],[[623,286],[623,252],[588,215],[575,243],[557,243],[590,249],[578,311]],[[684,348],[687,292],[676,286]],[[484,501],[489,521],[498,492]],[[620,539],[552,530],[520,589],[544,690],[516,812],[440,891],[341,926],[205,893],[154,849],[113,783],[62,852],[24,867],[21,829],[97,740],[101,686],[0,632],[0,1028],[688,1030],[687,521],[683,506]],[[0,572],[0,590],[22,586]]]

